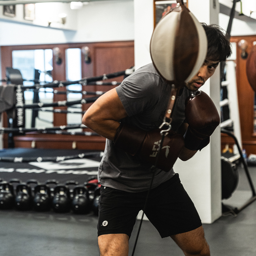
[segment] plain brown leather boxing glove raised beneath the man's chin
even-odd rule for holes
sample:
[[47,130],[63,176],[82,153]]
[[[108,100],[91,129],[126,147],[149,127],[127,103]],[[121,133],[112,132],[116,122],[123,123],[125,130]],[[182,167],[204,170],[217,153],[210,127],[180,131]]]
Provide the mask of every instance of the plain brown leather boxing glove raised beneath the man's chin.
[[217,108],[212,99],[198,91],[186,99],[185,117],[188,129],[184,135],[185,148],[201,150],[210,142],[210,135],[220,123]]

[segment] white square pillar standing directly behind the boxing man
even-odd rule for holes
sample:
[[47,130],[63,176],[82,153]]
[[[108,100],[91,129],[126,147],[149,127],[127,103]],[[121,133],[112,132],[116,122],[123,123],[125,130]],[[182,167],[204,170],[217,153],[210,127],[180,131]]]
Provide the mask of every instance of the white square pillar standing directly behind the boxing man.
[[[215,3],[216,8],[213,8]],[[134,0],[134,48],[135,67],[151,62],[149,43],[154,27],[153,0]],[[188,7],[199,22],[218,24],[219,3],[214,0],[189,0]],[[220,113],[219,68],[203,86]],[[192,159],[177,160],[175,172],[180,174],[182,184],[192,198],[203,223],[212,223],[222,214],[220,128],[211,136],[210,145]]]

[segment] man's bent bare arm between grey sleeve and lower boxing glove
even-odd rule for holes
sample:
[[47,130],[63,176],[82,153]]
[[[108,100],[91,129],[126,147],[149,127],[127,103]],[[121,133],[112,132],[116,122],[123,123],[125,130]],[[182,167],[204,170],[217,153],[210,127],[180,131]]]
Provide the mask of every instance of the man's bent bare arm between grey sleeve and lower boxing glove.
[[89,107],[82,117],[82,123],[99,135],[113,140],[120,125],[119,120],[124,117],[127,117],[127,113],[114,88]]

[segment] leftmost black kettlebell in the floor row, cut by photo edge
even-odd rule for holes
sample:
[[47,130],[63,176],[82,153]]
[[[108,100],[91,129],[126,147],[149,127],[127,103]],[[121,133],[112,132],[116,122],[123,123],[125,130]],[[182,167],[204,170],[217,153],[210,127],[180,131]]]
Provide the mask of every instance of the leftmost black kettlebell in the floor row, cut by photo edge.
[[13,186],[7,182],[0,183],[0,209],[11,209],[14,206],[14,189]]

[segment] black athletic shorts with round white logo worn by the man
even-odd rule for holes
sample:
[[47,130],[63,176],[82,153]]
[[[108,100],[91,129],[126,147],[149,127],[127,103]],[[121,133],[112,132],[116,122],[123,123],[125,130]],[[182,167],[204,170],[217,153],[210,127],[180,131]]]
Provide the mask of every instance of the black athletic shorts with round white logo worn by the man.
[[[101,186],[98,236],[127,234],[130,237],[138,212],[144,208],[147,193]],[[185,233],[202,225],[178,174],[150,191],[144,213],[162,238]]]

